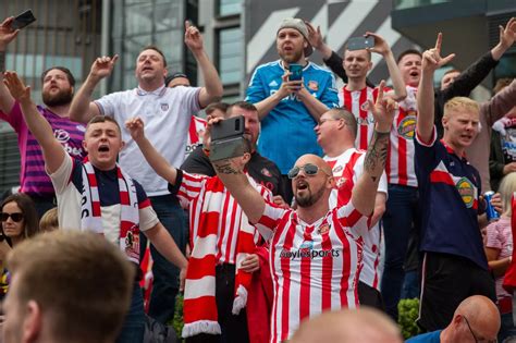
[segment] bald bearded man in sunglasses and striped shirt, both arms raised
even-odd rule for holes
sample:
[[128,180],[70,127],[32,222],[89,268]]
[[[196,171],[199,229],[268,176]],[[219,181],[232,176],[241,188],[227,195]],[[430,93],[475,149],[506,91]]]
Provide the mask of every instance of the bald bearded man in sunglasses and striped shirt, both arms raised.
[[[244,173],[249,159],[213,162],[219,177],[241,205],[260,234],[270,241],[274,283],[271,342],[287,340],[300,320],[323,310],[358,305],[364,229],[374,209],[383,172],[394,101],[383,99],[383,83],[374,105],[377,127],[351,201],[330,210],[334,179],[320,157],[304,155],[288,175],[297,209],[284,209],[263,200]],[[209,122],[208,131],[210,124]]]

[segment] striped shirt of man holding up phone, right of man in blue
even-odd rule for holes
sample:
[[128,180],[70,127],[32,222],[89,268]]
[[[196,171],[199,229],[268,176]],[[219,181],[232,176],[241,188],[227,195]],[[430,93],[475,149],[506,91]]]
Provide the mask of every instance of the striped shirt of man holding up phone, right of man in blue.
[[342,87],[342,90],[339,91],[339,105],[345,107],[351,111],[358,124],[357,137],[355,140],[355,146],[358,149],[367,150],[369,140],[372,137],[372,132],[374,131],[374,117],[367,103],[367,99],[370,99],[372,102],[376,101],[378,96],[378,88],[371,88],[366,86],[361,90],[347,90],[346,86]]

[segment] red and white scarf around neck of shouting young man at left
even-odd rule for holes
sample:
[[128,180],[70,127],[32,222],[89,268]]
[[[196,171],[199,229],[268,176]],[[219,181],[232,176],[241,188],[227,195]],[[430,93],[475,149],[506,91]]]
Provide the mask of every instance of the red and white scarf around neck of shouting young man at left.
[[[139,213],[136,188],[126,173],[116,164],[120,192],[120,233],[119,247],[128,260],[139,264]],[[103,234],[102,213],[97,176],[91,162],[83,161],[83,199],[81,208],[81,230]]]

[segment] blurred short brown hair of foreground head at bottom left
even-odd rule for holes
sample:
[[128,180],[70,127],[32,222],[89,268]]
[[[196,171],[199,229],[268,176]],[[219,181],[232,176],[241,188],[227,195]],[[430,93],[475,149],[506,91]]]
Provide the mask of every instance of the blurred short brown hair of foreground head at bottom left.
[[[105,237],[58,230],[25,240],[7,268],[20,306],[35,301],[57,342],[114,342],[130,308],[136,268]],[[5,316],[9,316],[5,313]]]

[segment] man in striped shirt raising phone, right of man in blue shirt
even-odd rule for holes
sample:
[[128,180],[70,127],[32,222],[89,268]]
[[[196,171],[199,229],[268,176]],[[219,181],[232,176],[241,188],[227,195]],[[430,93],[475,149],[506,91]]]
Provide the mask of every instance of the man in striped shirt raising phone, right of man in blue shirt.
[[367,73],[372,68],[371,51],[380,53],[388,68],[394,90],[389,91],[394,100],[400,101],[406,97],[405,84],[397,69],[394,56],[389,44],[379,35],[366,33],[374,37],[374,47],[368,50],[344,50],[343,68],[347,75],[347,84],[339,91],[339,105],[345,107],[355,114],[358,122],[358,131],[355,146],[366,150],[374,130],[374,118],[368,108],[367,100],[374,101],[378,96],[378,87],[371,88],[366,84]]

